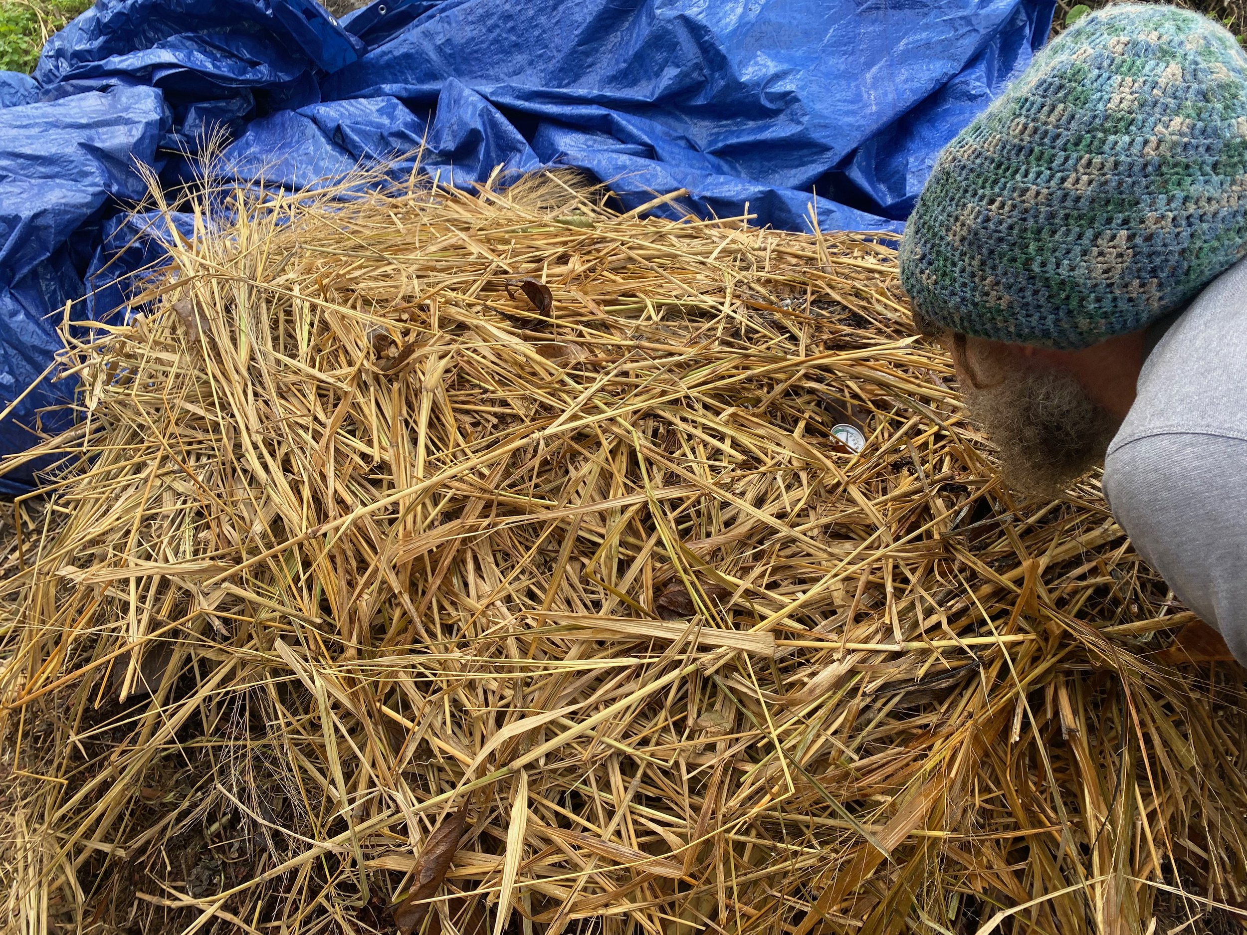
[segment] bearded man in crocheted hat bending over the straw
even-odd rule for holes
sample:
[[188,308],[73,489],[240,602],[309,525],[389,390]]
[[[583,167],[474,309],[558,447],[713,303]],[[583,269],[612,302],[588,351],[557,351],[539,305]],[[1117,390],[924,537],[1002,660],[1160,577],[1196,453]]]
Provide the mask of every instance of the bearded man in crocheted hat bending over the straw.
[[1114,515],[1247,664],[1247,56],[1161,5],[1081,19],[940,155],[905,229],[1003,475],[1096,464]]

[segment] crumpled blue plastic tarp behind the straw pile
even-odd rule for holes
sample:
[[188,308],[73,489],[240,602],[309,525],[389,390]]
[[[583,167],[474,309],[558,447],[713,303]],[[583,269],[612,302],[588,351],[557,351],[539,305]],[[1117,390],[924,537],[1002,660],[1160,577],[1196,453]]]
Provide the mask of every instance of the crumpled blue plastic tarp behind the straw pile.
[[[1054,1],[379,0],[339,22],[314,0],[100,0],[32,79],[0,72],[0,410],[142,232],[138,166],[173,185],[213,133],[268,185],[407,171],[423,147],[453,185],[574,166],[627,208],[683,188],[702,216],[803,231],[813,207],[824,229],[897,232]],[[71,393],[30,393],[0,454],[65,425],[49,408]]]

